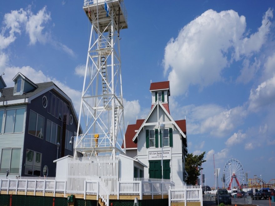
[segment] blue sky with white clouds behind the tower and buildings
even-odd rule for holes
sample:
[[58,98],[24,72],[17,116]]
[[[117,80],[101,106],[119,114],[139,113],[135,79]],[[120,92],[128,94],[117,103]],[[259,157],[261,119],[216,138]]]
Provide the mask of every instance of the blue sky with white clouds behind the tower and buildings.
[[[215,167],[238,159],[268,182],[275,160],[274,1],[125,1],[120,32],[125,122],[145,118],[150,82],[170,80],[170,112],[188,152]],[[83,1],[1,1],[0,72],[54,81],[79,111],[89,31]],[[267,23],[268,22],[268,23]],[[219,185],[221,185],[219,175]]]

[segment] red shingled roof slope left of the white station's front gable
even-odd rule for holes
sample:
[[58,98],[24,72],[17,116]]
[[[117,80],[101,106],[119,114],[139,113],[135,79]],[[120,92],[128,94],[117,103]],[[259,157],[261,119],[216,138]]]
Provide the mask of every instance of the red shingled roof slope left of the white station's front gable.
[[[125,133],[126,149],[138,147],[138,145],[133,142],[133,138],[137,133],[135,132],[135,130],[138,130],[141,127],[143,122],[144,122],[144,119],[137,120],[136,124],[127,126],[126,133]],[[124,145],[122,145],[122,148],[124,148]]]

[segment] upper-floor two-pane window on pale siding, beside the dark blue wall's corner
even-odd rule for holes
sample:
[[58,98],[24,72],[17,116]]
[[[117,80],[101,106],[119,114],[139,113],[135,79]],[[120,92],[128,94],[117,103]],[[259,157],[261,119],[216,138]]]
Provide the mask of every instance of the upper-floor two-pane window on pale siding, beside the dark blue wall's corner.
[[4,133],[23,132],[25,108],[6,110]]

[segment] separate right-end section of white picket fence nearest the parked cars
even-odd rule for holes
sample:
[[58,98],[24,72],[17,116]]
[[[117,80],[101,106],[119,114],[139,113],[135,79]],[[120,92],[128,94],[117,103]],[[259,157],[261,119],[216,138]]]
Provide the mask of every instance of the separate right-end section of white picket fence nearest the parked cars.
[[173,202],[200,202],[202,206],[202,187],[199,185],[183,185],[183,187],[172,187],[168,192],[169,206]]

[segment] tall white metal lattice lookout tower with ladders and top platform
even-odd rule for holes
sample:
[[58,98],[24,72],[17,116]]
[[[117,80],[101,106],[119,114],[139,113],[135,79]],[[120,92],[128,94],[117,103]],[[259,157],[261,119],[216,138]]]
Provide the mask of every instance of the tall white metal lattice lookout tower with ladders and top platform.
[[[84,0],[83,9],[92,28],[74,154],[123,154],[125,129],[119,31],[128,28],[127,11],[123,0]],[[83,134],[79,135],[82,118],[85,126]]]

